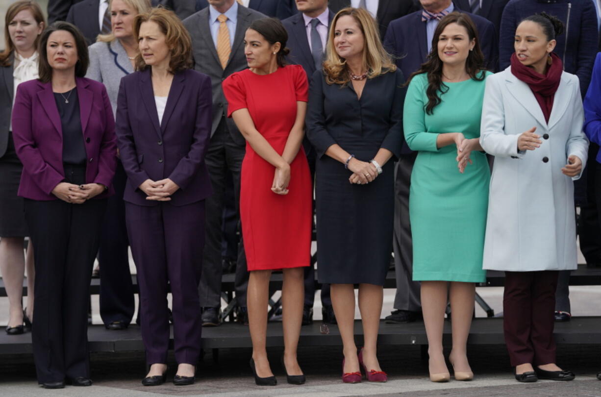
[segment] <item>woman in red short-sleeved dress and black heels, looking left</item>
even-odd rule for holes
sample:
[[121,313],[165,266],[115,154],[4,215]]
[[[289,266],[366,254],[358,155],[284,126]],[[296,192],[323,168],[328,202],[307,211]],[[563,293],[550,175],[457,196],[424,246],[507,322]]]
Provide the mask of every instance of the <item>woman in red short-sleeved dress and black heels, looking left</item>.
[[259,385],[276,384],[265,339],[272,270],[282,269],[284,368],[288,383],[305,376],[296,359],[304,302],[304,269],[311,256],[311,175],[301,143],[307,74],[285,66],[288,34],[277,19],[256,20],[245,35],[249,69],[223,82],[228,117],[246,138],[240,219],[248,270],[251,367]]

